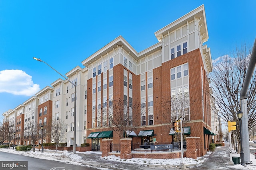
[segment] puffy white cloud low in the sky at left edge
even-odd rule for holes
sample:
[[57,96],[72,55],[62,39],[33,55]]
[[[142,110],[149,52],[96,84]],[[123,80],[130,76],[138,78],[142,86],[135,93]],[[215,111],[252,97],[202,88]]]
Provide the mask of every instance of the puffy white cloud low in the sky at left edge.
[[33,96],[39,90],[39,84],[34,84],[32,76],[22,70],[0,71],[0,93]]

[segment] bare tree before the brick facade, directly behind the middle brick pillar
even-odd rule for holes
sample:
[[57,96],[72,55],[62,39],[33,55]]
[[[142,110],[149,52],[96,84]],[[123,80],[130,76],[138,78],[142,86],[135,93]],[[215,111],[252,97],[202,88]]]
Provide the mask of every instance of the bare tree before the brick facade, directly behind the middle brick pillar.
[[[108,118],[103,117],[103,119],[109,120],[110,129],[115,131],[120,139],[128,138],[139,125],[139,110],[140,102],[132,102],[131,98],[128,101],[116,98],[109,101]],[[106,109],[103,109],[103,112],[106,112]]]

